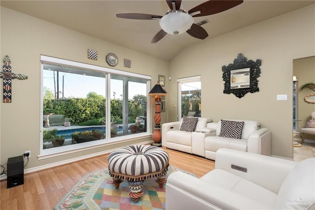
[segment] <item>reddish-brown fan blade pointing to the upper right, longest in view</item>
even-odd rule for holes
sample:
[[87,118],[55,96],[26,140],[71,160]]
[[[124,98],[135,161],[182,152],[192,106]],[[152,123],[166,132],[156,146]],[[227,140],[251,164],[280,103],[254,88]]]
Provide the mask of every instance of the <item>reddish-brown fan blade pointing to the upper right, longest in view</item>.
[[193,17],[213,15],[237,6],[242,2],[243,0],[209,0],[190,9],[188,13],[191,14],[200,10],[201,13],[193,15]]

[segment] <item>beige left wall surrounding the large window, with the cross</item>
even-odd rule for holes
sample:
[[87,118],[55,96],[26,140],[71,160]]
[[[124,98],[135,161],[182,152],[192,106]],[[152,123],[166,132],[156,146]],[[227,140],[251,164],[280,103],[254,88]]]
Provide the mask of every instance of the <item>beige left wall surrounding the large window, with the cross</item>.
[[[12,61],[12,72],[29,77],[27,80],[12,81],[12,103],[2,103],[2,96],[0,97],[0,164],[5,165],[7,158],[22,155],[27,150],[31,150],[32,157],[26,169],[122,146],[123,144],[104,146],[45,160],[37,159],[42,121],[40,55],[111,68],[105,57],[108,53],[115,53],[119,63],[114,69],[150,75],[152,87],[158,80],[158,74],[168,76],[169,62],[4,7],[1,7],[0,15],[1,60],[8,55]],[[97,61],[88,59],[88,49],[98,52]],[[131,60],[131,69],[124,67],[125,58]],[[141,140],[125,144],[136,142]]]

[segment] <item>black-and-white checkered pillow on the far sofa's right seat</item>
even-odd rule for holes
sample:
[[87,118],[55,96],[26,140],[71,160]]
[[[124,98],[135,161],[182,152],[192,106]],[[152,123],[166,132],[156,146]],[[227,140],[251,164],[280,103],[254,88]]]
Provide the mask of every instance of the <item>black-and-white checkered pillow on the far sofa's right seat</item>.
[[221,132],[219,137],[241,139],[244,127],[244,121],[221,120]]

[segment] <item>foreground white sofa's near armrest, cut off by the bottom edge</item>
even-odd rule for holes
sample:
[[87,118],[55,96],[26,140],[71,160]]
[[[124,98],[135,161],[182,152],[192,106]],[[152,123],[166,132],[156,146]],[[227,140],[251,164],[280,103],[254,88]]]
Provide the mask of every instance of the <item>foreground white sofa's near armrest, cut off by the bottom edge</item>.
[[182,172],[174,172],[165,186],[166,210],[270,209],[237,193]]

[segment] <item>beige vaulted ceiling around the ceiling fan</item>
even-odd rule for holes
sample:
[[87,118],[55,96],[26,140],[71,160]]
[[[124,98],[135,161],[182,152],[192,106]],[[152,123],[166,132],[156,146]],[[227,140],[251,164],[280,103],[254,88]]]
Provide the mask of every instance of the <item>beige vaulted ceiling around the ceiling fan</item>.
[[[189,10],[205,0],[183,0]],[[213,38],[272,17],[308,6],[315,0],[244,0],[227,11],[195,17],[194,23],[205,18],[202,27]],[[200,42],[187,33],[166,35],[151,43],[160,30],[158,20],[117,18],[117,13],[144,13],[163,16],[168,6],[165,0],[1,0],[1,6],[37,17],[65,28],[91,35],[167,61],[183,48]],[[113,52],[115,53],[115,52]]]

